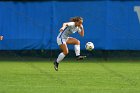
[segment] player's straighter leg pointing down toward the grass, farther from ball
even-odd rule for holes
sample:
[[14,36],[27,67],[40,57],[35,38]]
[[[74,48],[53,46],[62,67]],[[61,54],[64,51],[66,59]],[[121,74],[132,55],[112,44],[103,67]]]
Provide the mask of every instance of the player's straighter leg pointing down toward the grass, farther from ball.
[[62,39],[59,40],[58,39],[57,40],[57,43],[59,44],[59,47],[62,50],[62,52],[58,55],[58,58],[54,62],[54,68],[55,68],[56,71],[58,71],[58,65],[59,65],[59,63],[68,54],[68,47],[67,47],[67,44],[66,44],[65,40],[62,40]]

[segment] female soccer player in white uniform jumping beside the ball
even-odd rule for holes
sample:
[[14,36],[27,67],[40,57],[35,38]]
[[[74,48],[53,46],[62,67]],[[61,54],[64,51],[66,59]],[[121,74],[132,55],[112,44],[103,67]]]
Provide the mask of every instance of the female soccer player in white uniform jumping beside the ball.
[[64,59],[68,54],[67,44],[73,44],[75,49],[75,54],[77,60],[84,59],[86,56],[80,56],[80,41],[76,38],[69,37],[70,34],[78,32],[81,36],[84,36],[83,28],[83,18],[82,17],[73,17],[70,19],[71,22],[63,23],[60,33],[57,36],[57,44],[60,46],[62,52],[58,55],[58,58],[54,62],[54,68],[58,71],[59,62]]

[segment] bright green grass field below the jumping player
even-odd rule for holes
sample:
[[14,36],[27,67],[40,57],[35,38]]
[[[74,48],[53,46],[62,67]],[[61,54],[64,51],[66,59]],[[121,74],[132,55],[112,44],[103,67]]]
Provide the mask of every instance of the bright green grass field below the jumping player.
[[0,93],[140,93],[140,62],[0,61]]

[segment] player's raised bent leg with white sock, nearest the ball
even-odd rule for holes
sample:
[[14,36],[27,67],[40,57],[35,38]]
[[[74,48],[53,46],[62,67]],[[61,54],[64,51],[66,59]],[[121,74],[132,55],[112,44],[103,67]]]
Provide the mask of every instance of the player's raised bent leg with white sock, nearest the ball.
[[76,38],[69,37],[66,43],[74,45],[75,54],[78,60],[84,59],[86,57],[86,56],[80,55],[80,41],[79,40],[77,40]]

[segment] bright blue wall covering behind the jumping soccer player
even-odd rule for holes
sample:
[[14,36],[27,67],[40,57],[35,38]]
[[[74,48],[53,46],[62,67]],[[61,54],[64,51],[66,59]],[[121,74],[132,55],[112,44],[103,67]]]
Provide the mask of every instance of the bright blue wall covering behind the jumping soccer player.
[[59,28],[73,16],[84,18],[85,37],[72,35],[82,49],[91,41],[98,50],[140,50],[135,6],[140,1],[0,2],[0,50],[59,49]]

